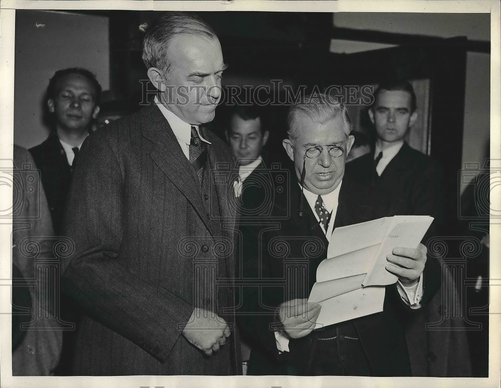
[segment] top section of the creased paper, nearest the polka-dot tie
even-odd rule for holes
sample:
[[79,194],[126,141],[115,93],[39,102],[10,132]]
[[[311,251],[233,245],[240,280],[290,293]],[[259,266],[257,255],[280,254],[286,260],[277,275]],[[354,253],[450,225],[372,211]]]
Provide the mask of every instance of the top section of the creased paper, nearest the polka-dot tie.
[[392,217],[336,228],[329,239],[327,257],[341,256],[362,248],[381,244]]

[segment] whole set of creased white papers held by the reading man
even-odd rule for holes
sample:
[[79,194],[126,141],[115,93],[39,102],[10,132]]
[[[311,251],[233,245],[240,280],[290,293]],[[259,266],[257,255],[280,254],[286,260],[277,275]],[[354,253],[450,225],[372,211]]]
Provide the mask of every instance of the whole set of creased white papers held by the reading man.
[[386,256],[417,248],[432,221],[393,216],[336,228],[308,299],[322,305],[315,328],[383,311],[385,286],[398,280],[386,271]]

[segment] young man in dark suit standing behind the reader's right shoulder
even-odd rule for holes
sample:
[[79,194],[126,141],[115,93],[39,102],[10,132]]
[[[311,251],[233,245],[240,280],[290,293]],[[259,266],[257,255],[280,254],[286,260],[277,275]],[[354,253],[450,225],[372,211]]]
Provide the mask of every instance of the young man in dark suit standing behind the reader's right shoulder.
[[380,84],[369,117],[377,133],[375,150],[349,162],[346,178],[385,191],[395,215],[434,217],[431,236],[443,220],[440,168],[404,140],[417,119],[412,85]]

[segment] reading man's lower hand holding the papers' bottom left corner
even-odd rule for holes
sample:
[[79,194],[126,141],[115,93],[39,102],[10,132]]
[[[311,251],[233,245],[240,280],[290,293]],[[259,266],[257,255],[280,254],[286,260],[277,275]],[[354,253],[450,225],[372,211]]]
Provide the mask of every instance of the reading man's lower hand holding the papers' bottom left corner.
[[315,328],[321,305],[308,299],[292,299],[278,308],[278,318],[291,338],[301,338]]

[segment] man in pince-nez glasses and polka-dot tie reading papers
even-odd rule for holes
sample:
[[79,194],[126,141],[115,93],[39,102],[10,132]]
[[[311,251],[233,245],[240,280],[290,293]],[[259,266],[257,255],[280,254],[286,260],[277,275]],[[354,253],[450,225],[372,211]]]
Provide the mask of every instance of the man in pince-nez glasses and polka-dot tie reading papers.
[[274,197],[268,217],[240,227],[237,312],[254,339],[249,374],[410,375],[401,322],[438,288],[437,263],[426,261],[421,244],[394,249],[386,269],[399,280],[386,287],[383,312],[313,330],[321,306],[307,298],[328,236],[387,209],[367,189],[343,181],[354,140],[346,107],[323,94],[306,96],[291,107],[288,123],[284,147],[298,180]]

